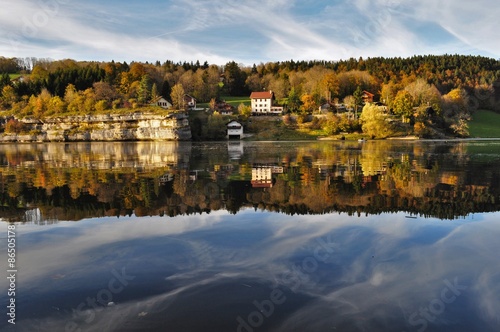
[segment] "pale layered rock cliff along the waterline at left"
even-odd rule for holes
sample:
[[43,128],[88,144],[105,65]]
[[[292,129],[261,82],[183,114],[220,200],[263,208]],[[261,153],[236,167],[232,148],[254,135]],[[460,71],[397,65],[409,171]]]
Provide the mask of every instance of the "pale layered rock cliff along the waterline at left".
[[20,120],[27,134],[3,134],[2,142],[186,141],[191,139],[187,114],[167,116],[88,115]]

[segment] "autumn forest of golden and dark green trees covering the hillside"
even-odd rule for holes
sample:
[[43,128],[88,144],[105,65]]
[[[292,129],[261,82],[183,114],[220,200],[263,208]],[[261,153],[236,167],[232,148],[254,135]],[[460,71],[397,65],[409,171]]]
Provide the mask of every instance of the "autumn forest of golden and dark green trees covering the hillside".
[[[2,57],[0,73],[0,108],[18,118],[140,111],[159,96],[181,109],[178,96],[184,93],[209,102],[262,90],[272,90],[276,101],[303,121],[328,105],[331,115],[321,126],[332,134],[362,127],[375,137],[381,131],[433,136],[438,129],[467,136],[471,112],[500,112],[500,61],[481,56],[290,60],[253,66]],[[380,103],[364,105],[363,91]],[[340,114],[345,110],[356,114]]]

